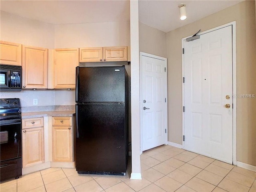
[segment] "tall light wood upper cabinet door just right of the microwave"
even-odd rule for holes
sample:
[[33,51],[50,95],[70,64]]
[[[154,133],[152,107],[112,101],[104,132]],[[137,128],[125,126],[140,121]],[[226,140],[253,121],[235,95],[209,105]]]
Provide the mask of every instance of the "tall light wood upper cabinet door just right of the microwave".
[[48,50],[22,45],[23,88],[47,88]]

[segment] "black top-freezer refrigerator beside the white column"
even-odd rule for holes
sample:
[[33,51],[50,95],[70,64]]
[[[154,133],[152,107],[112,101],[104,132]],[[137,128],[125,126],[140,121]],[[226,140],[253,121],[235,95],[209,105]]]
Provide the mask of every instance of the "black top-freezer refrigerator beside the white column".
[[76,67],[76,170],[126,173],[128,75],[124,66]]

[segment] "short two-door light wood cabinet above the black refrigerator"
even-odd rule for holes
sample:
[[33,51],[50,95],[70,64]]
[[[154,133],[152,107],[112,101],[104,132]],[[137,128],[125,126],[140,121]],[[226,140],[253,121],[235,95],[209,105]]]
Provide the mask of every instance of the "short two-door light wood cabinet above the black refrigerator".
[[79,62],[127,61],[127,46],[80,48]]

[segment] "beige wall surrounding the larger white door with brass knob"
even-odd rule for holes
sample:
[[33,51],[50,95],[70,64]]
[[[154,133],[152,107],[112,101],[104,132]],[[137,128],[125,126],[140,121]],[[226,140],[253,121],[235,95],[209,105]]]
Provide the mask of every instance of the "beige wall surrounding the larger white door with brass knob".
[[[255,1],[244,1],[167,33],[168,141],[182,144],[181,39],[236,21],[237,94],[256,94]],[[256,98],[237,99],[237,160],[256,166]]]

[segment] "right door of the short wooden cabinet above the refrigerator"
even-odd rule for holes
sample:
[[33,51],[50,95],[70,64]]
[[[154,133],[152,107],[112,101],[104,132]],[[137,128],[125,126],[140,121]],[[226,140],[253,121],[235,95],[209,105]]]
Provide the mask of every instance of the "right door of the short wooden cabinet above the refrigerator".
[[103,61],[127,61],[127,47],[103,47]]

